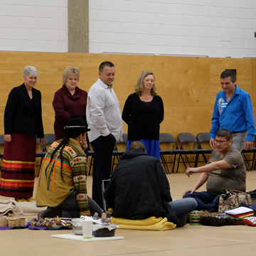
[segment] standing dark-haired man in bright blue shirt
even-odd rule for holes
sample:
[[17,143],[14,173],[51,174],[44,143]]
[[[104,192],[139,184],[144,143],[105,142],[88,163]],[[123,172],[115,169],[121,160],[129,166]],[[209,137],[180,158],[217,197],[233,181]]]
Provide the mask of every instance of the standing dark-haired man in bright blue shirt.
[[210,146],[216,149],[215,134],[219,129],[228,129],[233,134],[233,147],[238,151],[249,150],[256,135],[255,119],[250,95],[235,84],[233,70],[220,75],[222,91],[218,92],[210,129]]

